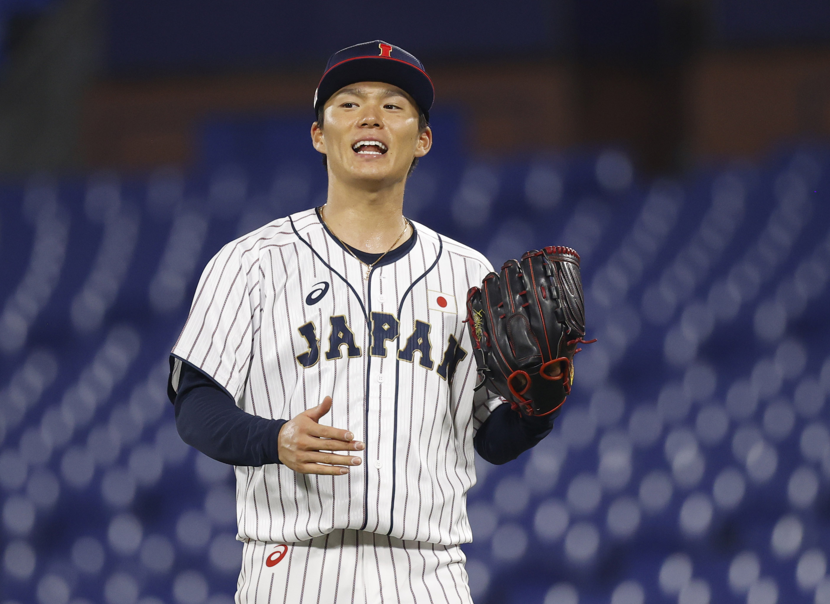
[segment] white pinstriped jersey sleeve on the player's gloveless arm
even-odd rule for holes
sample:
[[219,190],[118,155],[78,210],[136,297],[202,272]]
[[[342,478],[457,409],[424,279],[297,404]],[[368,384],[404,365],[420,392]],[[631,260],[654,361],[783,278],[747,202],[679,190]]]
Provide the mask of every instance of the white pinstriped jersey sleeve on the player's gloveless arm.
[[201,369],[237,403],[245,389],[253,347],[258,287],[249,283],[256,268],[246,266],[236,242],[207,264],[193,304],[171,353],[170,385],[178,391],[181,362]]

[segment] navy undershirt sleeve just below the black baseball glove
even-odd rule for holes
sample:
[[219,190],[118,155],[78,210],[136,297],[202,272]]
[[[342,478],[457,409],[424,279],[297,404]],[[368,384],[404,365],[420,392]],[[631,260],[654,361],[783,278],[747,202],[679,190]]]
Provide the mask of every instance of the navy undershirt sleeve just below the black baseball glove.
[[472,444],[482,459],[501,465],[537,445],[554,429],[554,416],[520,415],[505,402],[481,424]]

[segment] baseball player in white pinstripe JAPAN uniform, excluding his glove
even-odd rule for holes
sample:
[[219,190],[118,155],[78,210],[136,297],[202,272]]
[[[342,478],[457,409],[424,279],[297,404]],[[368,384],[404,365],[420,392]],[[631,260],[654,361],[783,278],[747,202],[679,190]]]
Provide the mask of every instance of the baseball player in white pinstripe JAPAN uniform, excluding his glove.
[[476,390],[466,296],[490,263],[403,214],[433,95],[398,46],[331,56],[311,127],[325,205],[231,241],[199,280],[168,394],[183,440],[236,466],[236,602],[471,602],[474,446],[505,463],[552,427]]

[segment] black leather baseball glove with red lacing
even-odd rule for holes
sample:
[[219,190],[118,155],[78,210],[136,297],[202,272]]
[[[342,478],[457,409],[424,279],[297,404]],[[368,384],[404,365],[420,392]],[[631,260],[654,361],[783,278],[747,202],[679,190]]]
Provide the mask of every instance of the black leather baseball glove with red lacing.
[[530,416],[559,414],[585,342],[579,255],[531,250],[467,293],[467,329],[483,383]]

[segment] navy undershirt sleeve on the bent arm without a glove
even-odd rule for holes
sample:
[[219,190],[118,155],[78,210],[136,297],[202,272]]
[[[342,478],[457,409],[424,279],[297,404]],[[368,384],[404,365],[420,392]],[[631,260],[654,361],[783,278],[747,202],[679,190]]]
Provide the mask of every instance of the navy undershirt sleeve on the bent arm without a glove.
[[173,399],[176,429],[188,445],[231,465],[279,464],[277,437],[287,420],[251,415],[211,377],[182,363]]

